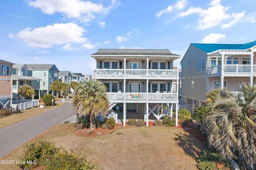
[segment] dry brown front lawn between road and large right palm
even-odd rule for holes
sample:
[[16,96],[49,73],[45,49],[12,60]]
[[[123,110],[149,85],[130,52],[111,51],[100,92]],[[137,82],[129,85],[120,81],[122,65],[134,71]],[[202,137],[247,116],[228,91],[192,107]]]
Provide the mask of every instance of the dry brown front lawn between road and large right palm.
[[[48,140],[66,150],[97,158],[102,170],[196,170],[196,157],[203,143],[180,127],[126,127],[107,135],[79,137],[74,124],[58,124],[28,143]],[[18,160],[20,146],[0,160]],[[18,169],[16,165],[0,170]]]

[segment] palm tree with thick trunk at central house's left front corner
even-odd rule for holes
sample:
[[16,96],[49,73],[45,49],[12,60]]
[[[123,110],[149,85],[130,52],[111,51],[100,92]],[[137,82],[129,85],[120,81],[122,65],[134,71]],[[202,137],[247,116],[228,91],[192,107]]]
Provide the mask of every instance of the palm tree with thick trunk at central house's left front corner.
[[106,117],[109,102],[106,96],[106,86],[99,80],[91,79],[77,86],[73,98],[73,108],[78,114],[90,116],[90,129],[96,129],[95,117],[101,114]]

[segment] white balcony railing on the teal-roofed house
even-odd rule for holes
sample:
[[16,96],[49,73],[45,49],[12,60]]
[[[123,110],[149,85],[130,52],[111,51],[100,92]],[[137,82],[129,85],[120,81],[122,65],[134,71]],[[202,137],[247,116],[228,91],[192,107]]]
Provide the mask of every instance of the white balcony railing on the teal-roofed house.
[[[208,74],[212,76],[220,76],[221,65],[211,66],[208,68]],[[250,76],[256,75],[256,65],[246,64],[224,64],[223,76]]]

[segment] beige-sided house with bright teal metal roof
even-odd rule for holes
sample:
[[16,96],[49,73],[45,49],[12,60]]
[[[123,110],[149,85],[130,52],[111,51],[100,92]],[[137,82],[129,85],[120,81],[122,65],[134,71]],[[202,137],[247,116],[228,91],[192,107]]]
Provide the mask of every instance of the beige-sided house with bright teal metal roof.
[[182,104],[198,104],[214,88],[238,93],[256,82],[256,41],[247,44],[190,44],[182,64]]

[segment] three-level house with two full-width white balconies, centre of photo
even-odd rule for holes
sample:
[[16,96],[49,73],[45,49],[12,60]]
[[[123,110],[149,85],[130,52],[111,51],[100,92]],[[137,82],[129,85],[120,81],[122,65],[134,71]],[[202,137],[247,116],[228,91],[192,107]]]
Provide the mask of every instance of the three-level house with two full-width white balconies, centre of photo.
[[141,113],[148,126],[150,114],[158,120],[164,114],[172,116],[173,104],[178,125],[178,86],[175,92],[173,86],[179,76],[173,63],[178,65],[180,55],[168,49],[98,49],[91,57],[92,78],[108,88],[110,106],[123,109],[124,126],[130,111]]

